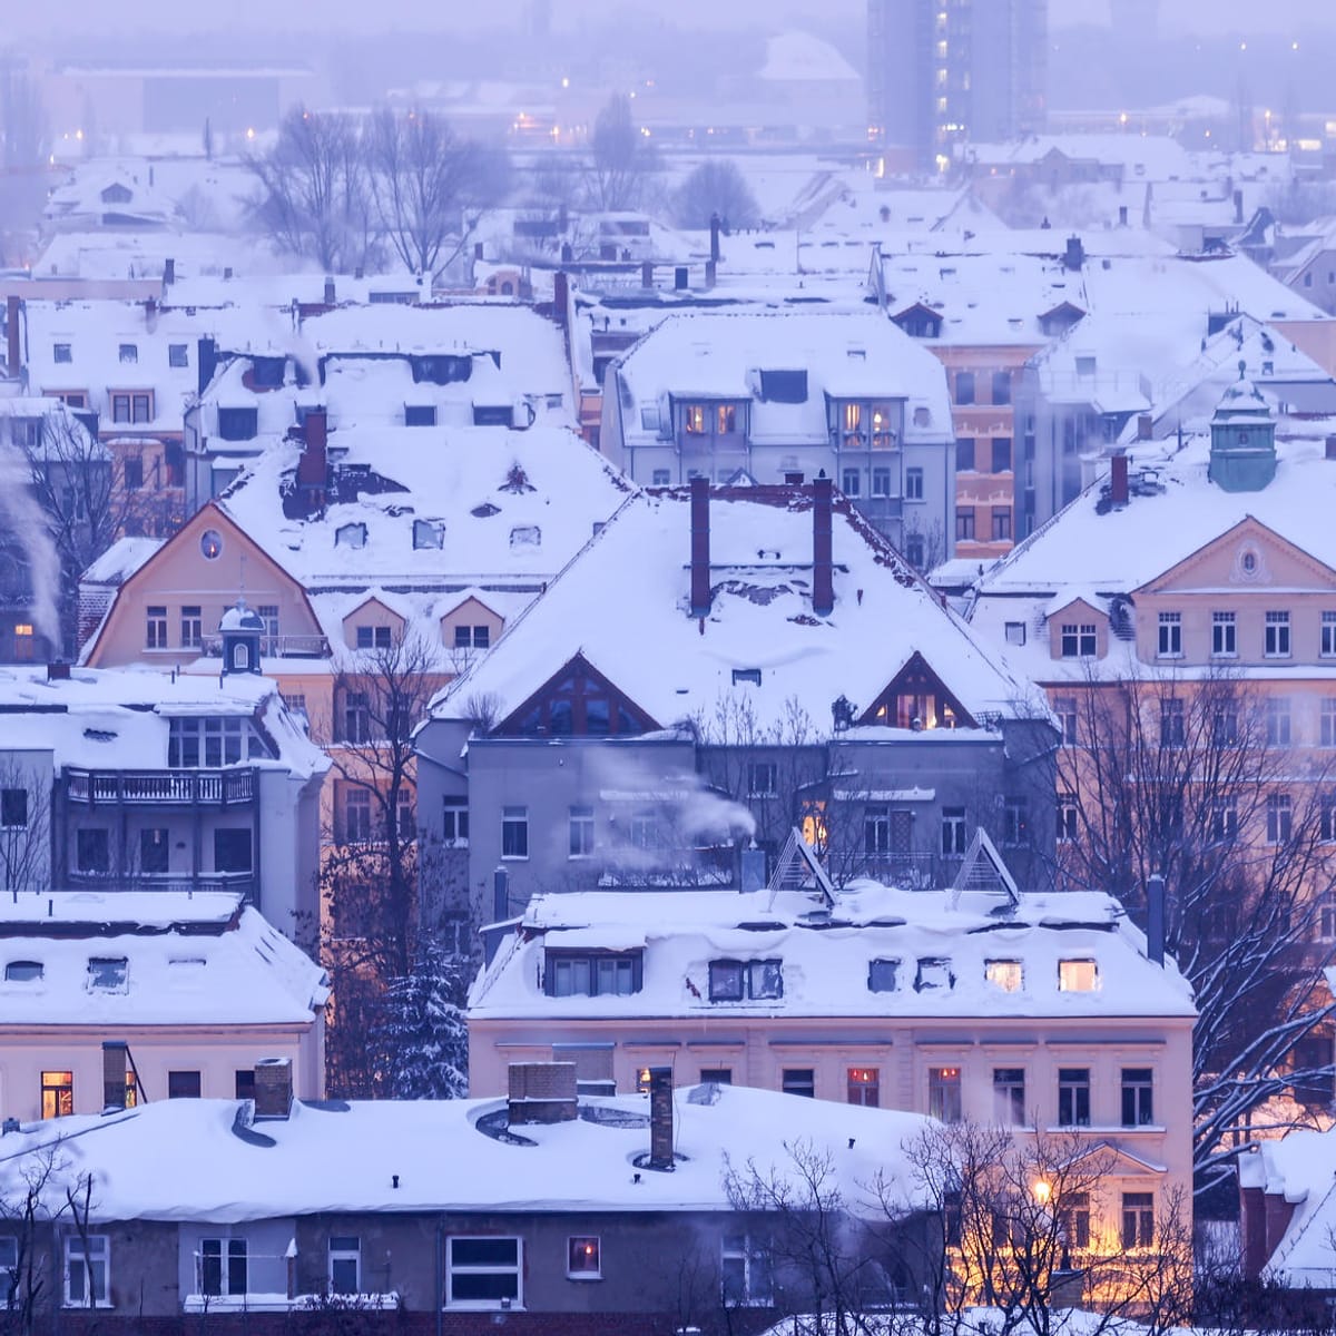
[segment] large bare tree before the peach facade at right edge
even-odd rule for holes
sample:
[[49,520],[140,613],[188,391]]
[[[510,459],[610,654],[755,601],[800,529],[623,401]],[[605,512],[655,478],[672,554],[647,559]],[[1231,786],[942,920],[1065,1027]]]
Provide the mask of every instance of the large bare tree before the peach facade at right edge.
[[1142,922],[1149,878],[1165,879],[1165,946],[1198,1009],[1198,1192],[1241,1140],[1295,1125],[1289,1092],[1333,1078],[1336,794],[1328,763],[1291,744],[1288,707],[1218,672],[1092,676],[1058,701],[1075,743],[1058,759],[1059,875]]

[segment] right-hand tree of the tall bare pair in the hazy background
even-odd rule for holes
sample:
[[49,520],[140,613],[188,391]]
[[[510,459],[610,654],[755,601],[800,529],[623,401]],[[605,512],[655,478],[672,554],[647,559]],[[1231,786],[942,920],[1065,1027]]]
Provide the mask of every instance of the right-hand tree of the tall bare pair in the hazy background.
[[506,194],[504,152],[461,139],[430,111],[382,108],[367,134],[381,227],[415,274],[436,274]]

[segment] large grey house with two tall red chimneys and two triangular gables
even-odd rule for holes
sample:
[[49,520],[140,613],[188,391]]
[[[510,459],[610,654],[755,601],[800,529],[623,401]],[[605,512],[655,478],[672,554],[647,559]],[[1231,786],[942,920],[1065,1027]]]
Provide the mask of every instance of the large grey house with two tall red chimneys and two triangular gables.
[[985,827],[1041,884],[1053,740],[828,480],[697,478],[629,497],[441,693],[418,823],[474,925],[506,916],[497,867],[513,906],[733,884],[743,846],[772,866],[795,824],[842,880],[945,884]]

